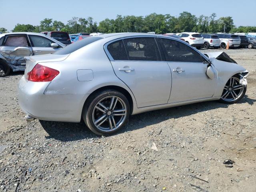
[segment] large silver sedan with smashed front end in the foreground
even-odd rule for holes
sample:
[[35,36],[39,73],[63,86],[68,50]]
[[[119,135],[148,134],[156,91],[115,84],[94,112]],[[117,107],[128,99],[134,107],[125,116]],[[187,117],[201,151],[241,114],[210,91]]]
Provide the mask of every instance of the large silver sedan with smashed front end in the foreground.
[[18,83],[28,120],[80,122],[112,134],[132,114],[209,100],[232,104],[248,71],[224,52],[140,33],[88,37],[54,54],[26,57]]

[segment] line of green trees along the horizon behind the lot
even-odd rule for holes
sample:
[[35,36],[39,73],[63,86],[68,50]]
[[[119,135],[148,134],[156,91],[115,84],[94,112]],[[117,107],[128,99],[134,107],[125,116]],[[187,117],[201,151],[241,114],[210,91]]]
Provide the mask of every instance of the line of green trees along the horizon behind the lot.
[[[116,19],[102,20],[97,24],[92,17],[78,18],[72,17],[67,24],[45,18],[40,21],[40,25],[16,24],[12,32],[43,32],[43,31],[64,31],[68,33],[78,32],[155,32],[156,34],[178,33],[178,32],[216,32],[235,33],[235,32],[256,32],[256,26],[238,26],[234,25],[232,17],[220,17],[216,19],[216,14],[210,16],[201,15],[196,17],[189,12],[182,12],[178,17],[170,14],[152,13],[147,16],[121,16]],[[5,28],[0,31],[7,32]]]

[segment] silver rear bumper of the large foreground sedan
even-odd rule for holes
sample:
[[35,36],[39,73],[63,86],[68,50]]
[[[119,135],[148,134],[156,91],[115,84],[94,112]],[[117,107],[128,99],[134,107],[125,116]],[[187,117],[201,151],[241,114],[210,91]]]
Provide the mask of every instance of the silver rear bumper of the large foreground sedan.
[[30,82],[23,76],[18,83],[20,108],[40,120],[80,122],[87,95],[44,94],[49,84],[50,82]]

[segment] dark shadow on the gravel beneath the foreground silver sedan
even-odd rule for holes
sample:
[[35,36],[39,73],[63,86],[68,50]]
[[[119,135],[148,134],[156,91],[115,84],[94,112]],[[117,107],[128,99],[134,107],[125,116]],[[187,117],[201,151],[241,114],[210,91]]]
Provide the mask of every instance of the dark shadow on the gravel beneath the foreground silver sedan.
[[[245,96],[238,103],[254,104],[256,100]],[[128,124],[116,134],[124,133],[126,131],[137,130],[158,124],[170,118],[180,118],[190,116],[192,114],[213,110],[216,108],[228,108],[228,104],[219,103],[217,101],[201,102],[196,104],[178,106],[151,112],[145,112],[130,116]],[[100,136],[92,133],[84,124],[80,123],[66,123],[66,122],[50,122],[40,120],[44,130],[49,134],[46,138],[54,138],[56,140],[68,142],[90,138],[100,138]]]

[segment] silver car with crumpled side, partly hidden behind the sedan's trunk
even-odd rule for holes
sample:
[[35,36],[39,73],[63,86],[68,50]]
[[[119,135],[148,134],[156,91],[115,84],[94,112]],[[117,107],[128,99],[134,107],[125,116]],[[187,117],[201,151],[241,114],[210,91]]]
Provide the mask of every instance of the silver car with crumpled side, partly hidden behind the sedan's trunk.
[[24,71],[24,56],[54,53],[65,45],[40,33],[15,32],[0,34],[0,76]]

